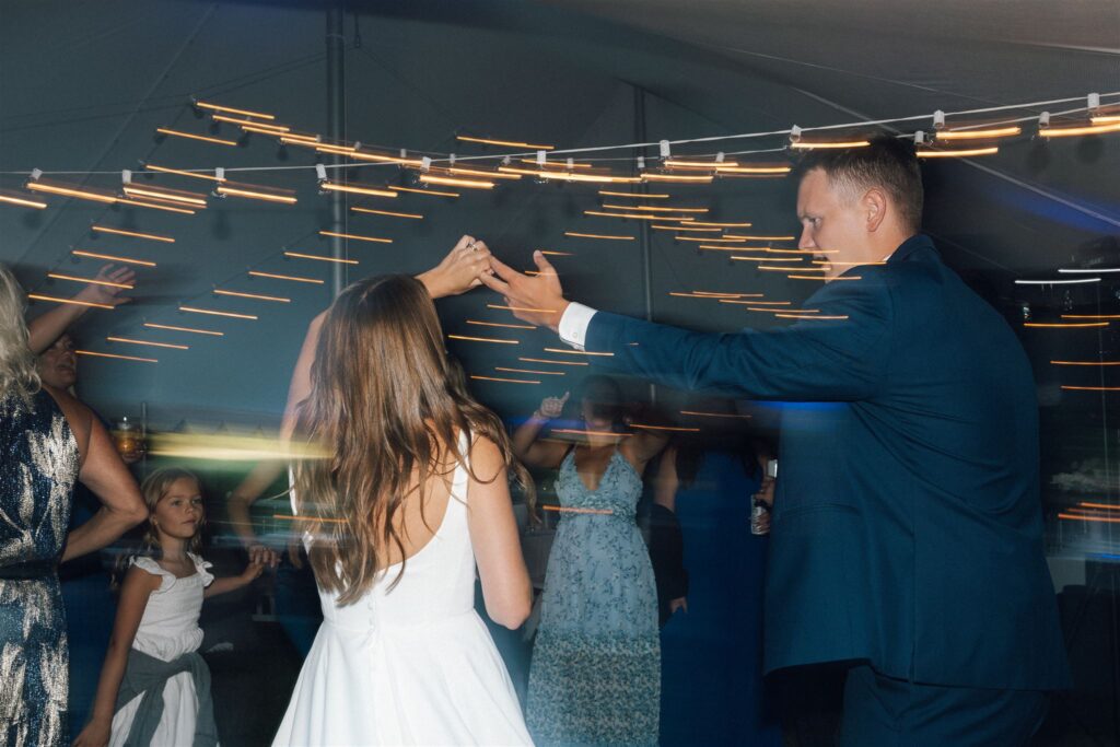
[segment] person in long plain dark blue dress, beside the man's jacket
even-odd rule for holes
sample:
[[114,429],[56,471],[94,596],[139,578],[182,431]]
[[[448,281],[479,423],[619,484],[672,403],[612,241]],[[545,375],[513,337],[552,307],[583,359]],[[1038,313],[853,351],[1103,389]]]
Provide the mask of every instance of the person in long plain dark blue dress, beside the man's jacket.
[[726,431],[674,438],[662,455],[654,501],[679,521],[689,569],[688,600],[661,634],[666,747],[782,744],[763,682],[767,541],[750,530],[755,498],[773,499],[767,456]]

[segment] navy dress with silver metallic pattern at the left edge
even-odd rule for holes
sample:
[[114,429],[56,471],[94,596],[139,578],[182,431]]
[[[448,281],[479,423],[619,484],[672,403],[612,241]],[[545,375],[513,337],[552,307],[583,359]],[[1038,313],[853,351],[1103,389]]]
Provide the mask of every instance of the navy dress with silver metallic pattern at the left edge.
[[40,391],[0,399],[0,744],[66,735],[66,619],[58,560],[80,469],[77,441]]

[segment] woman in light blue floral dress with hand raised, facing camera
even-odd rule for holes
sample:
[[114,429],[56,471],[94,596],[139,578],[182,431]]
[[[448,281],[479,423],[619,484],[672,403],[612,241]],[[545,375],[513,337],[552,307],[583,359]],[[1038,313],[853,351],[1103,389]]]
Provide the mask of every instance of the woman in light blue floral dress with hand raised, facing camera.
[[607,376],[584,382],[580,441],[542,439],[568,396],[545,398],[513,435],[525,464],[560,470],[563,512],[529,670],[529,728],[540,745],[655,745],[657,591],[635,511],[645,467],[668,439],[627,430],[622,392]]

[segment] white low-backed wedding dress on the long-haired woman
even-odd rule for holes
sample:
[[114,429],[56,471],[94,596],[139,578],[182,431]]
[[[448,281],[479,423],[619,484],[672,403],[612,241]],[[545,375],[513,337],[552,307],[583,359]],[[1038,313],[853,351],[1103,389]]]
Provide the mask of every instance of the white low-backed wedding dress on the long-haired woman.
[[345,607],[319,590],[323,625],[274,746],[532,744],[475,613],[467,478],[458,467],[444,521],[392,590],[399,566]]

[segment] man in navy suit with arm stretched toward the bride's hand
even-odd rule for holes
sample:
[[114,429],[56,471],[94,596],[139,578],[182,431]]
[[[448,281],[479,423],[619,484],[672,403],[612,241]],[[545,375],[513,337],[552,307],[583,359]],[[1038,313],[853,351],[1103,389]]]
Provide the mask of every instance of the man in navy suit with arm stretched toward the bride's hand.
[[596,365],[788,408],[766,578],[767,672],[848,662],[848,747],[1010,747],[1068,687],[1043,555],[1038,421],[1004,319],[920,233],[911,143],[811,153],[811,314],[706,334],[595,311],[492,259],[483,282]]

